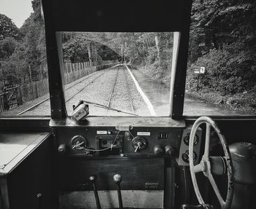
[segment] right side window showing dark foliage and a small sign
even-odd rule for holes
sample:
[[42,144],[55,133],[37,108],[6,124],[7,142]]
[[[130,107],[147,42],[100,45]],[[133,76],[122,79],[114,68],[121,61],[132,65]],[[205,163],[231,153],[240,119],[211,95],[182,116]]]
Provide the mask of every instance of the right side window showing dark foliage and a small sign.
[[256,115],[255,1],[193,1],[184,115]]

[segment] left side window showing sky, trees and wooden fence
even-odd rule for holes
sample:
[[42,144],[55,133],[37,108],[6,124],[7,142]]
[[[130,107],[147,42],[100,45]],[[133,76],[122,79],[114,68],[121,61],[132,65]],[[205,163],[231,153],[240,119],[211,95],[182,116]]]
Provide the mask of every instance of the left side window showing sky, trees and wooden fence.
[[48,92],[39,1],[1,1],[0,115],[50,115]]

